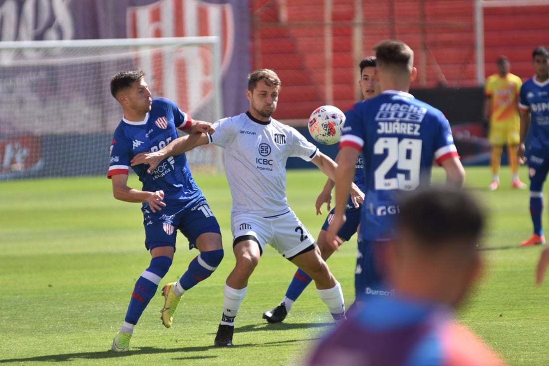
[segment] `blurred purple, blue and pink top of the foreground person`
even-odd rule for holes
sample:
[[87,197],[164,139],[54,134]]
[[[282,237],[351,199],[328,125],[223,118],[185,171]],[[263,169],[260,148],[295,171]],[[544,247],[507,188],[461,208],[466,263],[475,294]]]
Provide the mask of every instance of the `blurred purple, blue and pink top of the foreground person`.
[[308,366],[503,366],[450,308],[403,298],[372,299],[317,345]]

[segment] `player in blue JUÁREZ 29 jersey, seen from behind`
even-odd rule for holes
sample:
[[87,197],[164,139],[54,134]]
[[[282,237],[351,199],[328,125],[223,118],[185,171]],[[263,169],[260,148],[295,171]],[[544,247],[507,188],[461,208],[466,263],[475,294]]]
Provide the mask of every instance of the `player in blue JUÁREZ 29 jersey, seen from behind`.
[[429,185],[433,159],[446,170],[449,184],[461,187],[465,179],[446,117],[407,93],[417,75],[412,49],[388,40],[374,50],[382,94],[355,104],[346,115],[339,143],[334,220],[328,227],[328,242],[337,249],[356,158],[362,151],[366,199],[358,233],[362,258],[357,258],[357,267],[362,272],[355,283],[362,298],[392,294],[383,284],[381,264],[384,243],[394,236],[397,195]]

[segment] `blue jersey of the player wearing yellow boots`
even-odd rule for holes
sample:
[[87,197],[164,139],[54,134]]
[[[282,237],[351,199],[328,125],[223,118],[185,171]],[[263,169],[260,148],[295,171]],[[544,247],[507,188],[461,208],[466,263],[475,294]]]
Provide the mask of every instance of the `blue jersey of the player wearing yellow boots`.
[[[131,159],[140,152],[158,151],[177,138],[177,129],[191,127],[192,119],[171,100],[154,99],[144,121],[132,122],[122,118],[114,131],[110,151],[108,178],[128,174]],[[184,154],[168,157],[153,171],[147,173],[148,165],[132,167],[143,184],[143,191],[164,191],[164,202],[190,203],[201,196],[194,182]],[[184,208],[178,207],[179,209]]]

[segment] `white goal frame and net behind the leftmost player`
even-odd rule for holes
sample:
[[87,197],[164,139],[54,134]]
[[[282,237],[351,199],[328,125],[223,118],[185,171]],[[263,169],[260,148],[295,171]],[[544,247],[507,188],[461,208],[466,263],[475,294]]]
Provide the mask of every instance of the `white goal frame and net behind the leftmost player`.
[[[221,118],[218,37],[0,42],[0,180],[103,175],[122,109],[110,76],[141,68],[153,98],[195,119]],[[187,153],[220,173],[219,148]]]

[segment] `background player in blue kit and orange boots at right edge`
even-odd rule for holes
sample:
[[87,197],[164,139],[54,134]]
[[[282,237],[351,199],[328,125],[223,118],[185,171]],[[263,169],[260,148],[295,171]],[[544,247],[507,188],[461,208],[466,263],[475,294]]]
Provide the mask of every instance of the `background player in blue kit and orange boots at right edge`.
[[[544,244],[541,224],[544,210],[543,188],[549,171],[549,50],[537,47],[532,53],[536,75],[520,88],[520,145],[518,156],[521,162],[528,159],[530,176],[530,215],[534,224],[532,236],[520,243],[521,247]],[[526,158],[524,141],[530,131]]]

